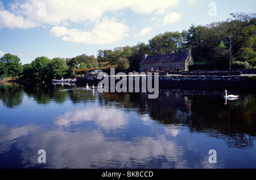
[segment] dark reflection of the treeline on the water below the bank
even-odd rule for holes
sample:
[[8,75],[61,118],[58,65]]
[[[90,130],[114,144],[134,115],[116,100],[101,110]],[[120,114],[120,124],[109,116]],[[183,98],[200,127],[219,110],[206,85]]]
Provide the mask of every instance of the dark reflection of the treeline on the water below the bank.
[[[66,91],[67,90],[67,91]],[[190,132],[204,132],[224,139],[229,147],[251,148],[256,135],[256,95],[236,91],[237,101],[225,105],[224,91],[193,89],[160,89],[159,97],[148,99],[146,93],[98,93],[83,87],[62,85],[1,85],[0,100],[7,108],[22,104],[24,93],[38,104],[71,101],[73,104],[97,102],[138,114],[148,114],[162,125],[187,126]]]

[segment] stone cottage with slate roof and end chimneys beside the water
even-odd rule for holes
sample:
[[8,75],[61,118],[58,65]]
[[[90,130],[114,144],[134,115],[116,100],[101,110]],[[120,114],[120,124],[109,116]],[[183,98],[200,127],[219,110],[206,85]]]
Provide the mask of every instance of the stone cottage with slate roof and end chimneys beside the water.
[[188,65],[193,62],[191,49],[186,49],[186,53],[153,56],[144,54],[139,68],[141,72],[188,71]]

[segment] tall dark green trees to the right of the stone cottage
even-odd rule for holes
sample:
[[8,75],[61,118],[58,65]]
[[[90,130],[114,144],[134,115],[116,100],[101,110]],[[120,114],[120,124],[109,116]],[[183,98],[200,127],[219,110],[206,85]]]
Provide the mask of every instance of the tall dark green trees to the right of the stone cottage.
[[[183,31],[183,48],[191,48],[197,63],[229,63],[230,33],[232,33],[232,62],[247,62],[256,65],[256,14],[230,14],[226,22],[212,23],[207,26],[192,25]],[[247,67],[246,63],[233,63],[233,67]],[[205,66],[210,63],[205,63]],[[215,63],[213,63],[215,67]]]

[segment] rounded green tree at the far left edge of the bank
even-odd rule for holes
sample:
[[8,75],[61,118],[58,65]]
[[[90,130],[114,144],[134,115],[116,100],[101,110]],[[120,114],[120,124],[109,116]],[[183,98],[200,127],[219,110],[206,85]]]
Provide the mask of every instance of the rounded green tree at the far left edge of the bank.
[[23,66],[17,55],[5,54],[1,59],[0,63],[4,63],[7,70],[7,76],[18,76],[23,72]]

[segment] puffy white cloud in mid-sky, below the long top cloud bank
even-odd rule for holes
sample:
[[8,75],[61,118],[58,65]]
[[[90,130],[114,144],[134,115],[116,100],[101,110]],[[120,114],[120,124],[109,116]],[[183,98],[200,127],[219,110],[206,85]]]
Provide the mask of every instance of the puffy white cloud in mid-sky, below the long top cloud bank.
[[114,18],[103,19],[102,22],[95,25],[92,31],[83,31],[82,29],[68,29],[65,27],[53,27],[49,35],[61,37],[64,41],[83,43],[83,44],[114,44],[127,36],[128,26],[117,23]]

